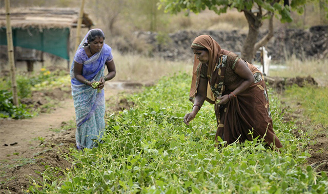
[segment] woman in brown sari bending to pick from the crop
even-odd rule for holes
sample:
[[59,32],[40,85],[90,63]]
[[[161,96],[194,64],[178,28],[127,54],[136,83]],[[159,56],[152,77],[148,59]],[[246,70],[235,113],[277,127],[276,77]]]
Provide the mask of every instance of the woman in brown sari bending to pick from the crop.
[[218,136],[227,144],[260,136],[272,149],[281,148],[273,131],[268,93],[261,72],[236,54],[221,49],[209,35],[195,38],[191,48],[195,54],[190,89],[194,106],[183,122],[189,125],[206,100],[215,104],[216,141]]

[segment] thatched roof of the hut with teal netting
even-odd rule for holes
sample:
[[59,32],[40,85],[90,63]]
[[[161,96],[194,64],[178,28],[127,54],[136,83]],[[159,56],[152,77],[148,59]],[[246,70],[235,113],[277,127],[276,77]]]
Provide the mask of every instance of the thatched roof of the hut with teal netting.
[[[77,26],[79,9],[71,8],[12,8],[10,23],[12,28],[71,28]],[[88,14],[83,14],[82,26],[90,28],[93,22]],[[6,27],[6,10],[0,10],[0,27]]]

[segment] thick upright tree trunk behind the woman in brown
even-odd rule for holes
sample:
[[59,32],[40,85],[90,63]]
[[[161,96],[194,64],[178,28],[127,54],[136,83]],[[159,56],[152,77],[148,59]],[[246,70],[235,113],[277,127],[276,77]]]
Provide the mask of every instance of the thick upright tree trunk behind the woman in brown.
[[257,40],[259,28],[262,26],[262,12],[261,9],[259,9],[257,15],[254,15],[253,12],[244,10],[244,15],[249,24],[249,31],[242,46],[241,58],[251,63],[254,58],[254,45]]

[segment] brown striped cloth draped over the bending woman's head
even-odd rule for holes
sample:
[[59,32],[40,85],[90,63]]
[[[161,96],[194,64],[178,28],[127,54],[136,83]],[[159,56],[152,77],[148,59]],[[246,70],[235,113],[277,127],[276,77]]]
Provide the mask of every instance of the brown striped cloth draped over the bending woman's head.
[[[208,65],[208,71],[207,71],[207,77],[211,79],[211,83],[215,84],[216,80],[218,79],[218,74],[214,74],[214,70],[216,67],[216,63],[218,63],[220,53],[221,53],[221,47],[219,43],[217,43],[211,36],[209,35],[200,35],[195,38],[193,43],[191,44],[191,48],[196,48],[199,50],[207,50],[209,52],[209,63]],[[191,88],[190,88],[190,100],[193,101],[195,98],[195,95],[197,93],[197,69],[198,65],[200,64],[200,61],[196,59],[194,60],[194,67],[193,67],[193,77],[191,82]],[[211,84],[212,85],[212,84]],[[207,94],[207,101],[210,103],[214,103],[215,98],[211,91],[210,86],[208,86],[208,94]],[[212,102],[211,102],[212,101]]]

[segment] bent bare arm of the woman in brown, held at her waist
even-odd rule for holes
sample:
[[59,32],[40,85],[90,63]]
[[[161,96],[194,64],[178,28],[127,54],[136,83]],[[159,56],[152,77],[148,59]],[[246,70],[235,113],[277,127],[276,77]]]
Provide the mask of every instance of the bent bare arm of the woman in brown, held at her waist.
[[240,92],[249,88],[250,85],[254,82],[254,75],[252,74],[252,71],[248,68],[248,65],[245,61],[239,60],[236,64],[236,68],[234,71],[240,78],[243,79],[243,81],[236,89],[234,89],[234,91],[232,91],[233,94],[230,93],[227,95],[223,95],[219,98],[219,100],[221,100],[219,102],[220,105],[228,103],[229,97],[230,99],[234,98]]

